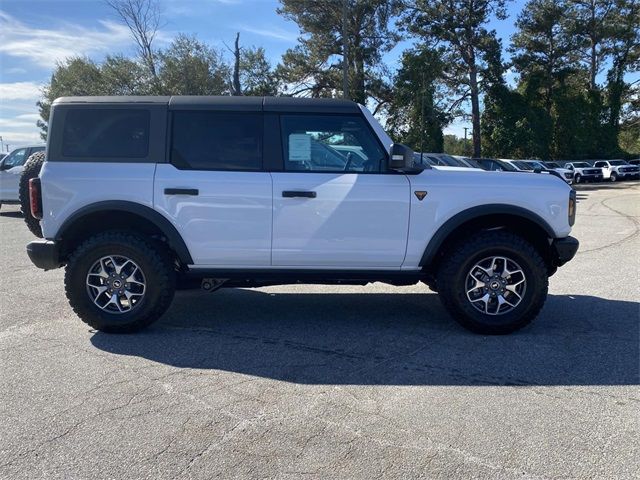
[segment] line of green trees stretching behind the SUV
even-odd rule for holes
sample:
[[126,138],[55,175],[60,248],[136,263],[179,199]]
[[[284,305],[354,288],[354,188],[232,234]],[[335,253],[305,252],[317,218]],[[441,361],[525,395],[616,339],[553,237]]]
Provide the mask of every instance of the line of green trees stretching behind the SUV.
[[[629,81],[630,72],[640,71],[640,1],[529,0],[506,65],[487,25],[505,17],[507,1],[281,0],[279,13],[300,29],[298,44],[274,69],[263,48],[240,48],[238,34],[232,79],[222,53],[194,37],[178,35],[165,50],[152,48],[156,0],[110,0],[138,58],[59,63],[38,102],[38,126],[45,138],[51,103],[60,96],[342,96],[346,40],[350,97],[384,112],[390,133],[415,150],[542,159],[640,154],[640,85]],[[383,56],[399,32],[413,46],[391,74]],[[505,82],[506,71],[517,73],[515,87]],[[453,118],[469,113],[467,143],[443,136]]]

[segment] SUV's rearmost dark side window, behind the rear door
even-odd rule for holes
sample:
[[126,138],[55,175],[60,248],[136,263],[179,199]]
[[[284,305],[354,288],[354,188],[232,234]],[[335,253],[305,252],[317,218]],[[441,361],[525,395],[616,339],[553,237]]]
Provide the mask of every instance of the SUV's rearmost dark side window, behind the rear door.
[[149,112],[79,108],[67,112],[62,133],[65,157],[142,158],[149,153]]

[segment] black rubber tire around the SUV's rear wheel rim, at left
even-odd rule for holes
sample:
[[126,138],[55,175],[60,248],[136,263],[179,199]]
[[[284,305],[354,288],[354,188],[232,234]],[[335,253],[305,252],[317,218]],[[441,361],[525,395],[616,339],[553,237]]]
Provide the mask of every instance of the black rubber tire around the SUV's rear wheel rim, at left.
[[[124,313],[101,309],[89,294],[88,274],[92,266],[106,256],[126,257],[135,262],[144,275],[144,296]],[[71,254],[64,277],[65,291],[74,312],[87,325],[108,333],[136,332],[155,322],[171,305],[175,282],[173,262],[162,244],[136,233],[116,231],[98,234],[82,243]]]

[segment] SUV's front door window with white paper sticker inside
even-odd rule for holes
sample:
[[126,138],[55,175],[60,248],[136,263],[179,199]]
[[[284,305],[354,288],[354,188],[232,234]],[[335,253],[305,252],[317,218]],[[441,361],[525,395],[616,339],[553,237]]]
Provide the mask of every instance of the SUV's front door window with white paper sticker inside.
[[366,122],[351,115],[283,115],[284,169],[380,172],[386,154]]

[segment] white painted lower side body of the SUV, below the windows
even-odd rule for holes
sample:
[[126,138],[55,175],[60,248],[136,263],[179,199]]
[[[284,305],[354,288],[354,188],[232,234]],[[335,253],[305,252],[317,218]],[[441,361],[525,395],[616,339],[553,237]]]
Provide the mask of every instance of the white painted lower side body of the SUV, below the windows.
[[[77,210],[122,200],[153,208],[182,235],[192,268],[417,270],[435,232],[466,209],[529,210],[570,233],[570,187],[550,175],[473,169],[419,174],[178,170],[170,164],[46,162],[42,228],[54,239]],[[167,196],[165,188],[199,195]],[[284,190],[316,198],[283,198]],[[427,191],[420,201],[416,190]]]

